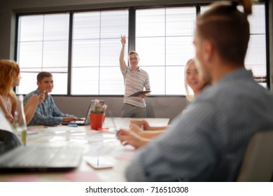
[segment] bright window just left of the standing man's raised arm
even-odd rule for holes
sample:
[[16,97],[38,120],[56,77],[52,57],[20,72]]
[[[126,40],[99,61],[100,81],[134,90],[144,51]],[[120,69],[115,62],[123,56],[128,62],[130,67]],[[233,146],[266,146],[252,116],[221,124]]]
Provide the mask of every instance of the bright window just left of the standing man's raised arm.
[[71,94],[124,94],[120,34],[128,34],[128,10],[73,15]]

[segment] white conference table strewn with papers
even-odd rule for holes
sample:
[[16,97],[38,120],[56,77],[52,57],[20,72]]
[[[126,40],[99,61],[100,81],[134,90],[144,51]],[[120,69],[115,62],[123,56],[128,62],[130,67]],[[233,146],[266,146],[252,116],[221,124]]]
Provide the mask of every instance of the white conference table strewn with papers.
[[[151,126],[166,126],[169,118],[145,118]],[[132,146],[123,146],[116,139],[116,130],[130,127],[137,118],[105,118],[102,130],[91,130],[90,125],[71,127],[28,127],[27,145],[76,146],[83,148],[78,168],[69,172],[0,174],[0,181],[109,181],[123,182],[125,168],[136,153]],[[105,162],[109,168],[94,169],[89,162]]]

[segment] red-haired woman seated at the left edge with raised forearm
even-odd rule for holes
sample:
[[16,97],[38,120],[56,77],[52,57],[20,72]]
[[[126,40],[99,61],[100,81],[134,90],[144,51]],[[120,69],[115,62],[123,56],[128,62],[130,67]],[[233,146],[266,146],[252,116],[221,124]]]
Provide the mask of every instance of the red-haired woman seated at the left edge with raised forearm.
[[[13,87],[20,85],[20,67],[17,62],[12,60],[0,60],[0,107],[5,114],[6,118],[13,122],[15,110],[17,107],[17,97],[13,91]],[[32,96],[29,102],[25,104],[24,111],[27,124],[30,122],[34,115],[36,106],[43,102],[45,95]]]

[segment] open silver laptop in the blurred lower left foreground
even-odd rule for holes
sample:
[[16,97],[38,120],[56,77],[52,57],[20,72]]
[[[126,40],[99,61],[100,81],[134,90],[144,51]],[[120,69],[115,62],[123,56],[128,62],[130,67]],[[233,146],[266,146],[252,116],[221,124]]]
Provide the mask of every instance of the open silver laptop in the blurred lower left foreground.
[[22,146],[0,109],[0,173],[69,171],[80,165],[82,153],[71,146]]

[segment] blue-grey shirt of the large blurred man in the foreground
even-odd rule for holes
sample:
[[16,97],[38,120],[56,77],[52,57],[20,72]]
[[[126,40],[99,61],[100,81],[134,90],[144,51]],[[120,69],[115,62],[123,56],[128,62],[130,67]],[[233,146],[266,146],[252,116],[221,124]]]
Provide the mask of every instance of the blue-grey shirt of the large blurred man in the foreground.
[[272,130],[273,96],[237,69],[205,88],[169,130],[141,148],[128,181],[236,181],[254,132]]

